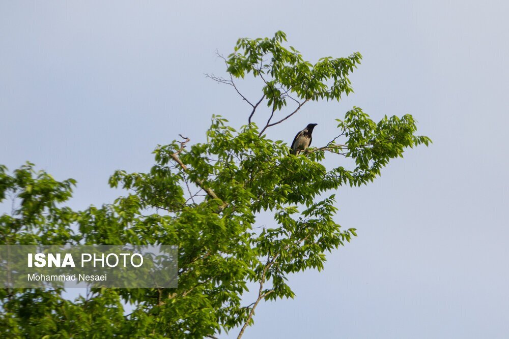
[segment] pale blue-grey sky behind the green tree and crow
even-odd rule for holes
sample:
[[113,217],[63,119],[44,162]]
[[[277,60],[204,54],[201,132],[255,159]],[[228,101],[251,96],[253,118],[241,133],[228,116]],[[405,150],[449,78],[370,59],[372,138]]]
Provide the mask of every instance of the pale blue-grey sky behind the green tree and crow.
[[358,237],[322,272],[292,275],[295,299],[261,304],[243,337],[506,338],[508,12],[466,0],[3,0],[0,164],[76,179],[73,208],[109,203],[122,194],[109,175],[147,171],[157,144],[204,141],[212,114],[246,123],[249,107],[205,77],[224,75],[216,51],[239,37],[281,29],[312,62],[359,51],[354,94],[306,105],[268,137],[291,142],[316,122],[325,145],[358,106],[375,120],[412,114],[433,144],[337,190],[336,221]]

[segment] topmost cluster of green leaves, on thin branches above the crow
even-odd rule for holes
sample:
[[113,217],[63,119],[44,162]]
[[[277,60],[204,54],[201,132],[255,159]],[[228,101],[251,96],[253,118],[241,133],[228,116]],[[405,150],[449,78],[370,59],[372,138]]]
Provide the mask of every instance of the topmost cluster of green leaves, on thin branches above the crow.
[[362,59],[359,52],[349,57],[322,57],[313,65],[294,47],[281,45],[286,41],[286,34],[281,31],[270,39],[239,39],[234,53],[226,60],[227,71],[237,78],[249,73],[261,77],[267,105],[278,110],[287,105],[289,93],[303,100],[339,101],[343,93],[353,91],[348,75]]

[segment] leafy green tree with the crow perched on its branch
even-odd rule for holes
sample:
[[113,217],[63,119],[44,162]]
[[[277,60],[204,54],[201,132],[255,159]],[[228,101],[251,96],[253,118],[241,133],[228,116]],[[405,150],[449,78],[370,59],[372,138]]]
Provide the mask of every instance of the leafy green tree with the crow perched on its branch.
[[[307,103],[351,93],[348,76],[361,55],[312,64],[285,42],[280,31],[272,38],[239,39],[223,57],[228,77],[209,76],[246,102],[245,126],[236,130],[213,116],[207,142],[191,144],[180,136],[159,145],[147,173],[119,170],[110,177],[111,187],[129,192],[112,204],[73,211],[62,204],[74,180],[56,181],[30,163],[12,174],[0,167],[0,201],[14,202],[12,213],[0,218],[3,244],[179,246],[177,289],[92,289],[74,301],[62,298],[61,289],[3,289],[2,333],[201,338],[235,329],[240,338],[261,301],[294,297],[291,273],[321,270],[325,253],[356,236],[354,228],[335,222],[333,191],[373,181],[390,159],[430,139],[415,135],[409,114],[374,122],[353,107],[337,119],[329,143],[290,155],[286,143],[268,139],[269,128]],[[261,79],[258,99],[239,91],[236,81],[246,76]],[[268,116],[259,128],[252,121],[264,105]],[[326,168],[326,157],[349,158],[352,166]],[[259,227],[262,211],[273,215],[272,225]],[[242,296],[252,284],[257,297],[246,303]],[[124,315],[122,302],[134,311]]]

